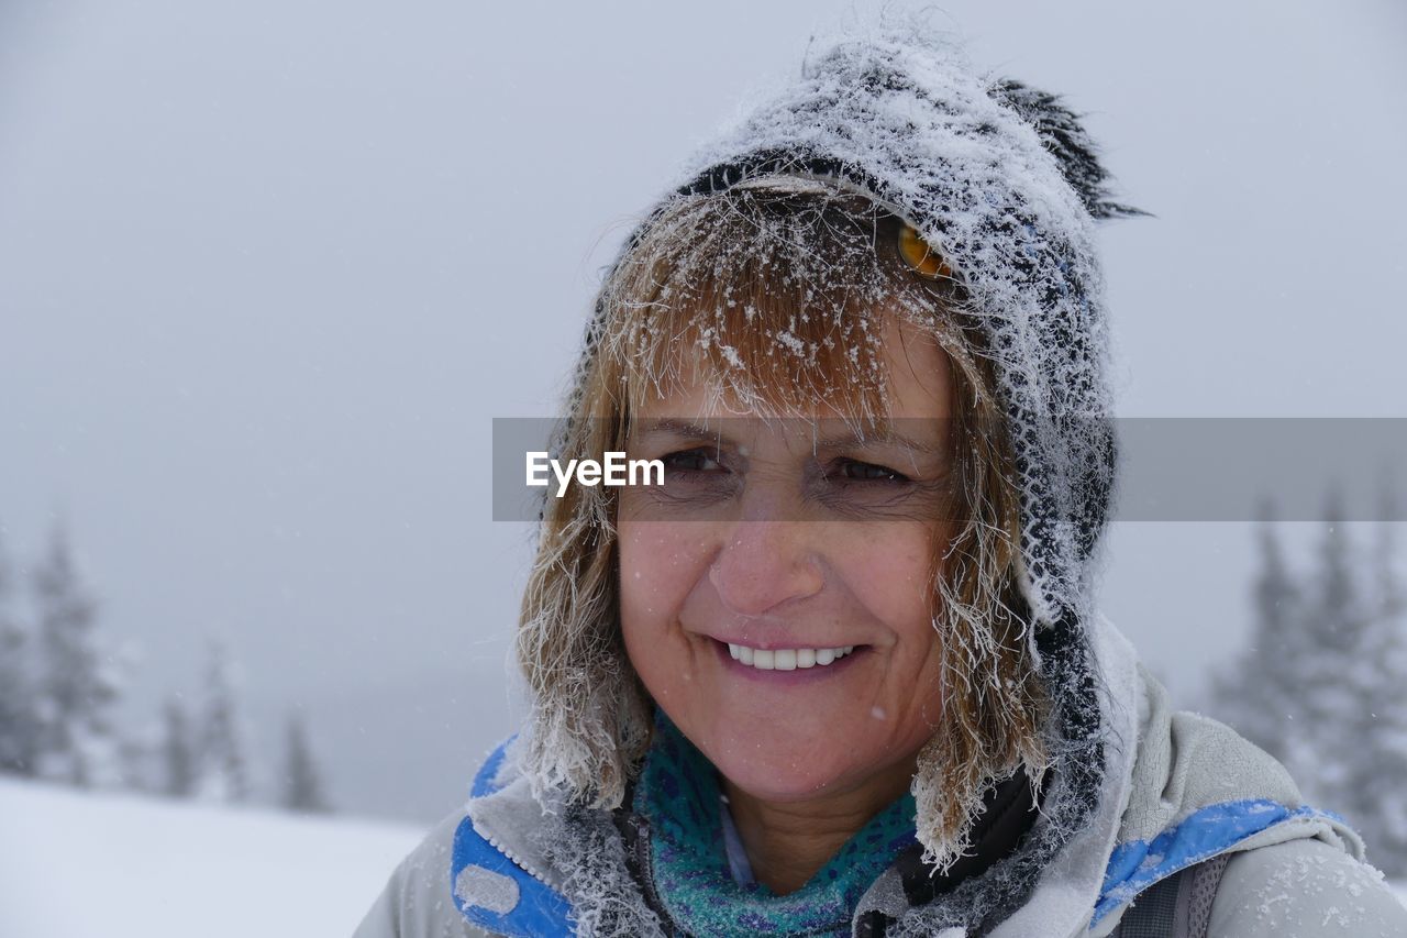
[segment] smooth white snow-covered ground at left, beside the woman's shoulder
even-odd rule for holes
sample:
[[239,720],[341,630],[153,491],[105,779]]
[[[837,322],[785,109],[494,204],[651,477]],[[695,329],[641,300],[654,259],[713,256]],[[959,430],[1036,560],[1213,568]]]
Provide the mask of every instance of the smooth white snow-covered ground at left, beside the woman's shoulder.
[[0,935],[348,938],[422,835],[0,779]]

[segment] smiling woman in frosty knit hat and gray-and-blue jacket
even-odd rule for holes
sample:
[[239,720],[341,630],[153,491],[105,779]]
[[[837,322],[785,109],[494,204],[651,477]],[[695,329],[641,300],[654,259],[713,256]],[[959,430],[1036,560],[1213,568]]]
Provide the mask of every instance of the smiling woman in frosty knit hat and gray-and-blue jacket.
[[922,30],[822,49],[606,277],[553,458],[663,484],[545,499],[528,725],[359,934],[1401,934],[1096,610],[1134,213],[1078,120]]

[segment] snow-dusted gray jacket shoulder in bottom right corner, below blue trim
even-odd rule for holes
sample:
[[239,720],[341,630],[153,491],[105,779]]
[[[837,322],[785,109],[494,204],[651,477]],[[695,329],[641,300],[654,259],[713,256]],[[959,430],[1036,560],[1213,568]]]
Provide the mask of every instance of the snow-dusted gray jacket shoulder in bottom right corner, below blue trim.
[[1383,875],[1317,839],[1235,853],[1207,938],[1407,938],[1407,907]]

